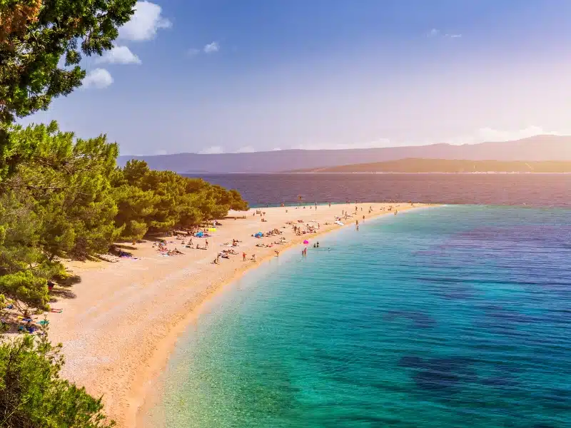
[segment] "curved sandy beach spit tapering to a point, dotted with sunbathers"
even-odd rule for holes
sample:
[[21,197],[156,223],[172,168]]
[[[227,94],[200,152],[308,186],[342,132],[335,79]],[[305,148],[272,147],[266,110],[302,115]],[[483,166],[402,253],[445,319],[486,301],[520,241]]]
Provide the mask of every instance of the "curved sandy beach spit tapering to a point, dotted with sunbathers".
[[[52,304],[63,312],[49,314],[51,340],[64,345],[66,365],[62,374],[84,385],[91,394],[103,395],[106,412],[119,427],[135,427],[138,410],[153,393],[153,380],[166,366],[178,335],[192,322],[201,303],[246,270],[276,257],[276,250],[299,245],[305,239],[311,245],[316,235],[340,228],[334,222],[342,210],[353,213],[352,218],[343,220],[345,227],[355,228],[355,220],[359,220],[360,228],[366,228],[363,215],[365,219],[393,215],[389,207],[399,212],[413,208],[410,203],[318,205],[317,210],[310,205],[262,208],[265,222],[261,215],[253,215],[256,210],[252,209],[229,213],[213,236],[193,238],[194,248],[185,248],[181,240],[166,238],[168,248],[178,248],[182,255],[164,257],[153,242],[146,241],[133,248],[127,246],[136,260],[68,263],[81,282],[66,289],[67,298],[59,297]],[[244,215],[246,218],[233,218]],[[317,233],[295,235],[293,226],[287,224],[293,222],[305,230],[310,221],[315,226],[319,223]],[[281,235],[260,239],[252,236],[276,228]],[[287,242],[256,246],[271,245],[281,238]],[[232,244],[233,239],[241,241],[233,248],[238,255],[221,258],[219,264],[214,264],[221,250],[231,248],[224,244]],[[204,247],[206,240],[208,250],[196,250],[196,244]],[[242,253],[246,253],[246,261]],[[256,260],[251,260],[252,255],[256,255]]]

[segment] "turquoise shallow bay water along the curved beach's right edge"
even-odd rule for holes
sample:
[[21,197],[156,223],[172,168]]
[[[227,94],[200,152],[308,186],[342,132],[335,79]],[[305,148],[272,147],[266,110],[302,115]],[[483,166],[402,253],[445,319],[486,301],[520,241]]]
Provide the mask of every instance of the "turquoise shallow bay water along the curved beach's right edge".
[[209,305],[149,426],[571,427],[571,210],[418,210],[320,243]]

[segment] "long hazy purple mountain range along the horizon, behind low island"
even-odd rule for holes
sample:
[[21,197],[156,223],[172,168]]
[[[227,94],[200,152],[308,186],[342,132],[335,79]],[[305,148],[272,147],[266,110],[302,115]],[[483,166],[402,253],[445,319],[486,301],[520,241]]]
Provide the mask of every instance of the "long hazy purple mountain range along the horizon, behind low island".
[[571,136],[534,136],[517,141],[477,144],[432,144],[347,150],[283,150],[254,153],[177,153],[156,156],[119,156],[146,161],[151,169],[178,173],[279,173],[329,168],[355,163],[395,161],[405,158],[462,159],[468,161],[571,161]]

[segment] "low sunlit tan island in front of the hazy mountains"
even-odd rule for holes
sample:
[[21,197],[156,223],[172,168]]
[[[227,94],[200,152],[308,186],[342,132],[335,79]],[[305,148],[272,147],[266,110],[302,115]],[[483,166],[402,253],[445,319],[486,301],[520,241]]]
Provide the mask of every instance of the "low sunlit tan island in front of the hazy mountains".
[[571,173],[571,161],[467,161],[407,158],[305,168],[293,173]]

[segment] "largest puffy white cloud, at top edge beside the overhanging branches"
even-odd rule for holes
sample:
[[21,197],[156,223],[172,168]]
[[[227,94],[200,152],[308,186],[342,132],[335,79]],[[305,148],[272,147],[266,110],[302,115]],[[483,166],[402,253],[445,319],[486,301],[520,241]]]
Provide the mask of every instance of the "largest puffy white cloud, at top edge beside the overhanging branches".
[[168,29],[173,24],[161,15],[161,6],[150,1],[137,1],[131,21],[119,29],[121,39],[132,41],[151,40],[158,29]]

